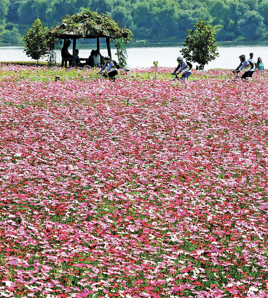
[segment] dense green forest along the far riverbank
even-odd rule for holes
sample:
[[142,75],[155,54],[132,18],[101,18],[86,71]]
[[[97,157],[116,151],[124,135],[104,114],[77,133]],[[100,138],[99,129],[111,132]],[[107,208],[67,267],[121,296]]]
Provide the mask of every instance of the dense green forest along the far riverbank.
[[216,40],[267,40],[268,0],[0,0],[0,43],[21,43],[37,18],[55,27],[65,15],[90,8],[134,33],[134,42],[184,41],[200,18]]

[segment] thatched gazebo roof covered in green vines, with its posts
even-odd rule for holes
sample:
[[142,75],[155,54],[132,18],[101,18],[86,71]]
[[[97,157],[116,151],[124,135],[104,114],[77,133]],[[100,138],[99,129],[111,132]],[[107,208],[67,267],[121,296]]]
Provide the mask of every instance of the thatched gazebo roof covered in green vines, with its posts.
[[63,17],[62,23],[57,24],[56,28],[49,31],[48,38],[52,41],[72,39],[73,57],[75,56],[77,39],[96,39],[97,50],[99,50],[99,39],[105,38],[108,55],[112,59],[110,41],[123,39],[128,42],[132,35],[128,28],[119,28],[119,23],[116,23],[110,16],[99,15],[95,11],[86,9],[73,16]]

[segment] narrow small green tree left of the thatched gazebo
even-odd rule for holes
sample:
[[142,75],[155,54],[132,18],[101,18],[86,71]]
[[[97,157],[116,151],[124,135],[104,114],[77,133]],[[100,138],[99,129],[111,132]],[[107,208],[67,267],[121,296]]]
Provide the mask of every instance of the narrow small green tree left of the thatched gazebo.
[[49,28],[43,28],[42,22],[37,19],[33,22],[32,28],[27,30],[23,37],[26,55],[37,60],[37,64],[38,60],[49,52],[46,38],[48,30]]

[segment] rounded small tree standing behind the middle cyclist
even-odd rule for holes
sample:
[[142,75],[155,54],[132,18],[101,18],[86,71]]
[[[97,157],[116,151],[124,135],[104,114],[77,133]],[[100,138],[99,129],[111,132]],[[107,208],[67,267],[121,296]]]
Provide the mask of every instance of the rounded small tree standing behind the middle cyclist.
[[194,24],[196,30],[188,30],[188,36],[183,45],[187,46],[181,50],[184,58],[200,64],[199,69],[204,69],[204,65],[219,56],[217,52],[215,31],[202,19]]

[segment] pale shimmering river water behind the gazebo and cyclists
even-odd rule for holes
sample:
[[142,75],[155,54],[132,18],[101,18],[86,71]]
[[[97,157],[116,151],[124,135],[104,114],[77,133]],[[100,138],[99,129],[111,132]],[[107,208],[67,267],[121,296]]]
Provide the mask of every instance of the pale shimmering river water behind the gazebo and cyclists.
[[[87,58],[92,49],[93,44],[77,44],[79,48],[79,57]],[[128,66],[129,67],[150,67],[153,66],[153,61],[158,61],[158,66],[176,67],[176,58],[181,56],[180,50],[182,46],[176,44],[131,44],[127,48]],[[70,51],[71,52],[71,51]],[[107,49],[104,44],[100,45],[100,52],[103,56],[107,56]],[[239,56],[246,55],[249,58],[249,53],[254,54],[254,59],[261,57],[265,68],[268,67],[268,42],[257,44],[236,44],[222,43],[218,45],[219,57],[209,62],[205,69],[224,68],[234,69],[239,63]],[[112,48],[113,59],[116,60],[115,49]],[[0,46],[0,61],[31,61],[23,52],[22,46]],[[45,61],[46,58],[41,59]],[[57,62],[60,62],[60,52],[57,52]],[[194,63],[193,63],[194,64]]]

